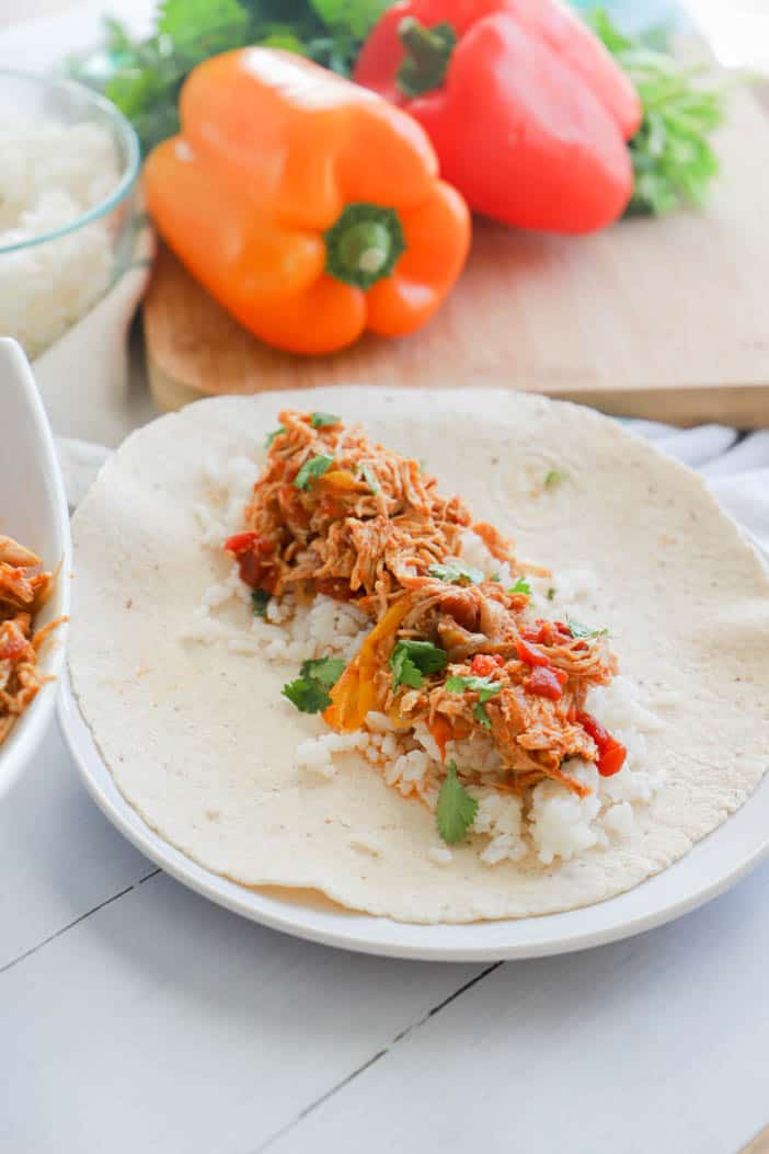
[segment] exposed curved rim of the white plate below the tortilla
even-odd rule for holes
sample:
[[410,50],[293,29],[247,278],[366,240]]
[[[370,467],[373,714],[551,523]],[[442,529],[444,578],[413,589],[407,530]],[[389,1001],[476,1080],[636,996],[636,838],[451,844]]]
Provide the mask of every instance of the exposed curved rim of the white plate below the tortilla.
[[[261,893],[214,874],[152,830],[118,789],[80,711],[68,669],[60,683],[58,717],[67,748],[88,793],[119,832],[150,861],[182,885],[242,917],[304,941],[359,953],[423,961],[490,962],[544,958],[594,949],[634,937],[691,913],[731,889],[769,856],[769,823],[766,823],[766,833],[759,837],[749,850],[738,850],[730,869],[717,874],[700,887],[657,906],[653,905],[646,913],[631,913],[623,920],[621,907],[629,906],[632,909],[639,902],[639,896],[643,905],[643,894],[649,894],[653,889],[664,890],[676,870],[679,876],[681,868],[684,871],[691,870],[692,861],[707,855],[708,847],[714,845],[719,834],[723,840],[723,831],[752,804],[760,805],[763,800],[769,809],[767,773],[742,805],[678,861],[631,890],[589,906],[519,919],[437,924],[397,922],[390,917],[344,908],[316,911],[301,902]],[[95,763],[98,764],[98,773],[93,770]],[[101,774],[101,781],[98,774]],[[618,907],[619,915],[612,916]],[[587,928],[581,930],[579,926],[572,924],[574,922],[585,922]],[[590,928],[591,922],[595,924]],[[535,934],[533,939],[520,941],[521,928],[531,926],[541,928],[543,932]],[[548,932],[549,929],[551,932]],[[517,937],[519,941],[515,941]],[[448,941],[443,942],[442,938]],[[488,941],[483,941],[484,938]]]

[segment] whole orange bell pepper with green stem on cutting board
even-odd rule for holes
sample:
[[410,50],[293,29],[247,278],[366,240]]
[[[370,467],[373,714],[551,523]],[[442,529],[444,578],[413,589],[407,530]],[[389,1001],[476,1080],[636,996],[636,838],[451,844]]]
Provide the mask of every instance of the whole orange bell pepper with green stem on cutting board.
[[198,65],[182,130],[149,156],[149,211],[257,337],[323,353],[412,332],[459,276],[469,213],[405,112],[308,60],[242,48]]

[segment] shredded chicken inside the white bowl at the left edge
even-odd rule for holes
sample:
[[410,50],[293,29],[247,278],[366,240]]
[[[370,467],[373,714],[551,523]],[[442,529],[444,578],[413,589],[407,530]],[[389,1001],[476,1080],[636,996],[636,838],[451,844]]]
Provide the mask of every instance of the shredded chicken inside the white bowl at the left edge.
[[50,589],[40,559],[0,535],[0,745],[45,680],[38,650],[47,629],[36,635],[33,621]]

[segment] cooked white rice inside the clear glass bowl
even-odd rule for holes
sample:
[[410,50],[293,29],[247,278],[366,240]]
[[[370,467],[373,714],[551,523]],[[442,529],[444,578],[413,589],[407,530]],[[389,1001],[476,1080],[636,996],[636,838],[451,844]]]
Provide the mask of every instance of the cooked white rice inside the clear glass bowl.
[[[96,123],[0,122],[0,248],[55,232],[104,201],[120,178],[114,141]],[[0,332],[30,358],[104,294],[112,273],[108,219],[0,260]]]

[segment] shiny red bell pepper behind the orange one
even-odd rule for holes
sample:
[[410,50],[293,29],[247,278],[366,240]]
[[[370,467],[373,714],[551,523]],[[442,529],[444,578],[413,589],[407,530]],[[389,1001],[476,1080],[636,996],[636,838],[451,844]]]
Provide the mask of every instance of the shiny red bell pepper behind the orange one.
[[374,28],[354,78],[422,125],[442,175],[478,212],[580,233],[627,205],[638,95],[558,0],[405,0]]

